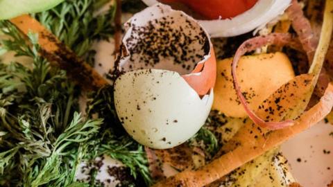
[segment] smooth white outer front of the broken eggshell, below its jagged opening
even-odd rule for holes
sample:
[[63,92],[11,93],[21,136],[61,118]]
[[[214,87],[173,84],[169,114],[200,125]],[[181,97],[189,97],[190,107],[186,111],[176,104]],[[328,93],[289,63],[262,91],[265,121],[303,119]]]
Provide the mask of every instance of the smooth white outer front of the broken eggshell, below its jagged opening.
[[194,136],[210,113],[213,91],[200,98],[174,71],[143,69],[114,83],[117,114],[128,134],[150,148],[173,148]]

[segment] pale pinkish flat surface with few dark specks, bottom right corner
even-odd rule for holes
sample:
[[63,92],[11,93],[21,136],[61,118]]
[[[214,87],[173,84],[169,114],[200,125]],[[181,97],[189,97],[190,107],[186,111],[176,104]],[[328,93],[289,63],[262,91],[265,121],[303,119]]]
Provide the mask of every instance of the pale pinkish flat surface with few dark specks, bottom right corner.
[[318,123],[282,145],[291,173],[303,187],[324,187],[333,180],[333,125]]

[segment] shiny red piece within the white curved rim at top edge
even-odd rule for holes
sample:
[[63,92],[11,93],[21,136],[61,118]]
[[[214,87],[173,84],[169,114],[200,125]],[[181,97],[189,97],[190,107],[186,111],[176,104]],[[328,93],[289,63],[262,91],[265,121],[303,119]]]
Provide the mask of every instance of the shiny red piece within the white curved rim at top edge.
[[258,0],[162,0],[164,3],[184,3],[207,19],[236,17],[249,10]]

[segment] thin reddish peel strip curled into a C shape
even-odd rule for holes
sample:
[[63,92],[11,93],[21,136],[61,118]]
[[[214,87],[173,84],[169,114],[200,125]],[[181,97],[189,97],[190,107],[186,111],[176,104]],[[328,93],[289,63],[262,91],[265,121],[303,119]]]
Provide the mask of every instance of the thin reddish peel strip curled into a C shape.
[[250,119],[260,127],[267,127],[271,130],[277,130],[283,127],[293,125],[293,121],[287,120],[282,122],[266,122],[262,120],[262,118],[259,118],[259,116],[257,116],[257,114],[255,114],[255,112],[253,112],[253,110],[250,109],[246,101],[246,98],[241,93],[241,88],[239,87],[236,75],[237,64],[239,62],[240,57],[245,53],[247,53],[248,51],[254,51],[256,48],[265,46],[267,44],[275,44],[277,46],[289,45],[292,46],[293,48],[300,47],[300,44],[295,38],[293,38],[290,34],[285,34],[285,33],[274,33],[267,36],[259,36],[259,37],[254,37],[252,39],[248,39],[246,42],[241,44],[241,46],[239,46],[236,54],[234,55],[234,60],[232,61],[232,78],[234,79],[233,81],[234,89],[236,90],[237,96],[241,104],[244,106],[244,109],[248,114],[248,116],[250,117]]

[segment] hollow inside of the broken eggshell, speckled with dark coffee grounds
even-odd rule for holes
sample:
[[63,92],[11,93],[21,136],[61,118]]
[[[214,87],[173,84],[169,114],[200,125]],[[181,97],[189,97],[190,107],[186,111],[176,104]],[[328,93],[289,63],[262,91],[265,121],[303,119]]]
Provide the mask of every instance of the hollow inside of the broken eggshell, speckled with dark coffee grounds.
[[157,4],[126,24],[121,71],[176,71],[198,93],[208,94],[216,79],[216,60],[209,36],[191,17]]

